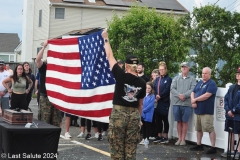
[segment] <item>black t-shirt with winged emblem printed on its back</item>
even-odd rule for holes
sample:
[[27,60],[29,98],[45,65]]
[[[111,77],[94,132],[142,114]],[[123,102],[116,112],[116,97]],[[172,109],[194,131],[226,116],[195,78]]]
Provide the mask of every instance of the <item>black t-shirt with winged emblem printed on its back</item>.
[[138,99],[146,95],[146,82],[130,73],[125,73],[116,63],[112,68],[116,80],[113,104],[126,107],[138,107]]

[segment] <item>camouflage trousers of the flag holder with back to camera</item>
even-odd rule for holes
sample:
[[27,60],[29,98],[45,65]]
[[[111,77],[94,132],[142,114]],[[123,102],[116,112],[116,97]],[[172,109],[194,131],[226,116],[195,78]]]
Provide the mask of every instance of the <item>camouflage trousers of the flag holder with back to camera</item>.
[[112,160],[136,160],[137,144],[140,141],[139,123],[137,108],[113,106],[108,131]]

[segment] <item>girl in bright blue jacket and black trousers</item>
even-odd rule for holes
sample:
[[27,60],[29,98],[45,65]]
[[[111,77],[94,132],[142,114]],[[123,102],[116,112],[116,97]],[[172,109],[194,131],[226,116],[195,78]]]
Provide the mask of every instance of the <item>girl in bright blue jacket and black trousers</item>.
[[152,118],[154,113],[155,95],[152,82],[146,83],[146,96],[143,99],[142,121],[143,121],[143,140],[140,144],[148,145],[151,134]]

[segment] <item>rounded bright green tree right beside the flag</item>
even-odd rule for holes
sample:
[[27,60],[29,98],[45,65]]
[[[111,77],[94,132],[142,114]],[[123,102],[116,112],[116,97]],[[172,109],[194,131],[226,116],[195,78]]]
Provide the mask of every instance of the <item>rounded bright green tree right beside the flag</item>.
[[172,14],[157,13],[155,9],[133,6],[121,17],[114,14],[108,21],[108,33],[117,59],[135,54],[145,64],[145,74],[165,61],[169,73],[179,71],[176,62],[186,58],[188,48],[184,28]]

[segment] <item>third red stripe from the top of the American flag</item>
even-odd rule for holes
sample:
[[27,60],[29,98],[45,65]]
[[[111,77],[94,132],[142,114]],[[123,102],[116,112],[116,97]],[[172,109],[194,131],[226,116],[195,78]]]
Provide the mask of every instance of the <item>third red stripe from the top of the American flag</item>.
[[47,65],[48,71],[57,71],[67,74],[82,74],[81,67],[68,67],[68,66],[59,66],[55,64],[48,64]]

